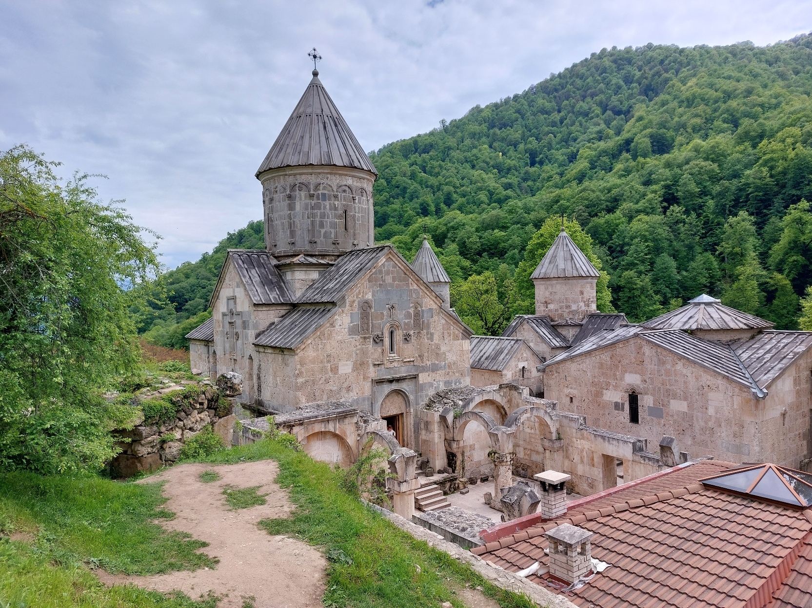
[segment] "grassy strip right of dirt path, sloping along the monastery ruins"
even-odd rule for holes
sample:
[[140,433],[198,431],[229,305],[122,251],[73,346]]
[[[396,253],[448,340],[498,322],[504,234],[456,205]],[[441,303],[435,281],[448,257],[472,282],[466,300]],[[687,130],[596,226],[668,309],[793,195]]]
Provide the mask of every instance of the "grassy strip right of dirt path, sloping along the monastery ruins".
[[[476,585],[506,608],[530,608],[526,597],[499,589],[468,566],[396,528],[339,486],[330,466],[315,462],[275,439],[218,452],[206,462],[236,463],[272,458],[276,482],[296,505],[290,519],[261,522],[270,534],[291,534],[320,546],[330,566],[326,606],[436,608],[463,606],[451,589]],[[420,566],[420,570],[415,566]]]

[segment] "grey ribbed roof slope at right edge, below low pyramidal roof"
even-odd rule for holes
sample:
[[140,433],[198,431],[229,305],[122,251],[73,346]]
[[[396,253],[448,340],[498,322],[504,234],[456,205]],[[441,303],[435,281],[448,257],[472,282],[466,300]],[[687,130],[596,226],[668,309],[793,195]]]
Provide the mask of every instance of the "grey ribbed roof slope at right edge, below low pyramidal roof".
[[750,374],[766,387],[782,371],[812,348],[812,332],[767,331],[753,340],[733,345],[733,350]]

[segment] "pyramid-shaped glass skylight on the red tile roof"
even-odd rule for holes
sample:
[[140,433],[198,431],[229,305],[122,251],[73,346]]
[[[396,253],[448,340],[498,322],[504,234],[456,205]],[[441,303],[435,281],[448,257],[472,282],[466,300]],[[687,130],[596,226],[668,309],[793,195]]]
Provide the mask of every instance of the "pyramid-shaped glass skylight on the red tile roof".
[[706,486],[792,507],[812,505],[812,475],[777,465],[749,465],[702,480]]

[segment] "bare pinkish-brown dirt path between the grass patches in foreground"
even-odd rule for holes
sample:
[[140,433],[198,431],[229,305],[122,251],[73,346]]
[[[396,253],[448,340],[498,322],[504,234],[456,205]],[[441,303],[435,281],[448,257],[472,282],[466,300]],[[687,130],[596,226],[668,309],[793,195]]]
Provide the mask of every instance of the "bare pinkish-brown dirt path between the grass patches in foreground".
[[[218,482],[202,483],[198,475],[217,471]],[[279,473],[273,460],[240,465],[179,465],[143,482],[166,480],[166,508],[175,512],[166,529],[181,530],[209,543],[201,549],[218,557],[215,569],[172,572],[154,576],[119,576],[100,572],[105,584],[132,583],[168,592],[180,589],[197,599],[209,591],[222,599],[218,608],[241,608],[253,597],[256,608],[321,606],[325,590],[326,559],[316,548],[286,536],[270,536],[257,528],[259,520],[285,517],[292,505],[286,492],[272,480]],[[139,482],[141,483],[141,482]],[[259,486],[269,493],[267,503],[229,510],[224,486]],[[250,604],[249,604],[250,605]]]

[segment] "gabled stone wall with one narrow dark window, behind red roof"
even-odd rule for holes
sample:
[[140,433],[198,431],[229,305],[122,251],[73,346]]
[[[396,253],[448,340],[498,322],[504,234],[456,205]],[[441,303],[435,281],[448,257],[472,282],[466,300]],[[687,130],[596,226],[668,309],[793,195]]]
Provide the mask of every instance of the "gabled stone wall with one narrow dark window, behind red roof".
[[[544,383],[547,398],[557,400],[563,411],[585,415],[590,426],[648,439],[653,446],[663,435],[672,435],[680,451],[692,457],[798,464],[784,460],[778,434],[771,441],[763,436],[764,422],[780,424],[778,410],[784,399],[777,387],[771,390],[777,402],[768,408],[770,401],[756,400],[747,387],[640,338],[550,366]],[[798,384],[800,393],[803,383]],[[639,424],[628,421],[632,391],[638,394]],[[803,422],[800,411],[793,415]],[[801,443],[800,432],[786,439],[790,437]],[[798,447],[781,448],[784,453],[789,449]]]

